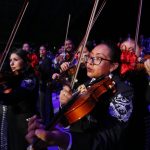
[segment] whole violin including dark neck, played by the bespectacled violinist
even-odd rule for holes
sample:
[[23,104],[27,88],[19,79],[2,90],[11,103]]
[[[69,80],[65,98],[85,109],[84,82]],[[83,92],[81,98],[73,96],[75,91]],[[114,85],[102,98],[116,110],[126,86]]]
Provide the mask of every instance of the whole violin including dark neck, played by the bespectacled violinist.
[[[94,81],[88,85],[87,89],[87,92],[81,95],[78,91],[75,92],[70,101],[55,114],[55,117],[52,118],[52,121],[45,129],[50,130],[54,128],[64,116],[67,118],[69,124],[75,123],[93,110],[96,103],[101,100],[100,97],[103,94],[108,91],[112,94],[116,92],[115,82],[109,77],[100,78],[100,81]],[[42,140],[37,139],[32,144],[32,147],[36,149],[43,144]]]

